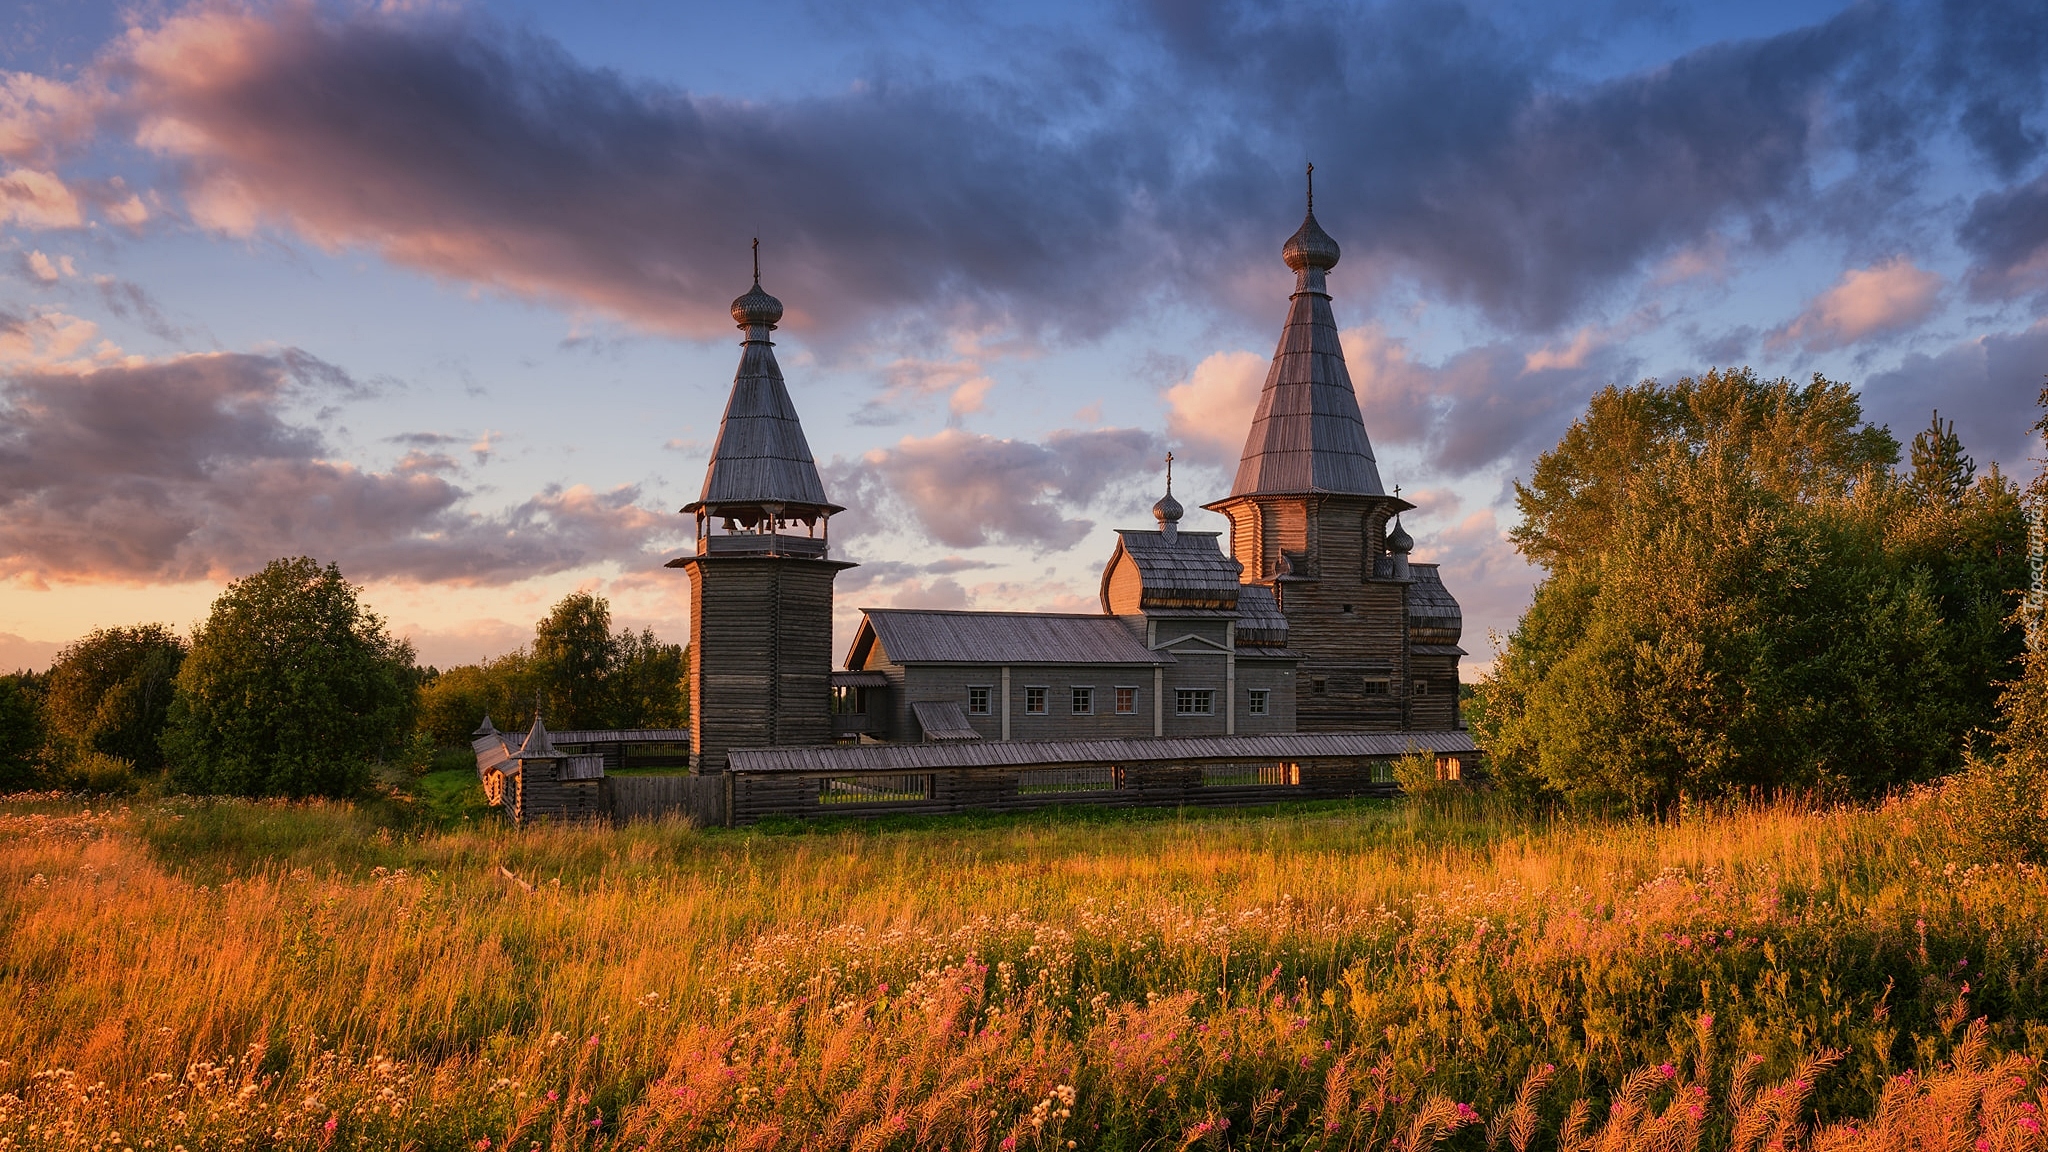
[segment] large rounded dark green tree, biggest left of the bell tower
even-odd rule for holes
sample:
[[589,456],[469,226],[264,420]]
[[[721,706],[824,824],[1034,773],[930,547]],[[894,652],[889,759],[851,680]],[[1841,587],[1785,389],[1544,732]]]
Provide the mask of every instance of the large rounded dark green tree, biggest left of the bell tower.
[[403,744],[416,678],[340,568],[272,560],[193,635],[164,752],[193,791],[350,795]]

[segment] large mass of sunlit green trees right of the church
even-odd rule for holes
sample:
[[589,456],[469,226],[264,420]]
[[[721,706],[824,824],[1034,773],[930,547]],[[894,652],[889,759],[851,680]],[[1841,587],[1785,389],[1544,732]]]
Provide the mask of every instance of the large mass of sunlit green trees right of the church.
[[1942,424],[1896,451],[1821,377],[1595,396],[1518,484],[1546,576],[1475,709],[1497,779],[1667,810],[1958,767],[2017,656],[2017,492]]

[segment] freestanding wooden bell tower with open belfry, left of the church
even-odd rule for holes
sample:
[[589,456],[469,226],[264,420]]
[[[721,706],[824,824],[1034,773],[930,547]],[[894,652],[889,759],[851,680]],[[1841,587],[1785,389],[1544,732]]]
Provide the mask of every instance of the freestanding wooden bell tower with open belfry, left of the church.
[[727,748],[831,742],[831,580],[817,461],[768,338],[782,301],[754,287],[733,301],[748,338],[711,449],[696,517],[696,553],[670,560],[690,574],[690,763],[725,769]]

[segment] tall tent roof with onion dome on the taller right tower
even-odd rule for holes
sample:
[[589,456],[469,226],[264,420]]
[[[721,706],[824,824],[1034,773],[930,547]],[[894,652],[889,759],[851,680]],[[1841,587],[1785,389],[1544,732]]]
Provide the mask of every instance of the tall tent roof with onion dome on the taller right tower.
[[1231,496],[1384,496],[1323,283],[1323,273],[1337,266],[1337,242],[1315,221],[1313,184],[1309,215],[1288,238],[1282,258],[1294,269],[1294,295]]

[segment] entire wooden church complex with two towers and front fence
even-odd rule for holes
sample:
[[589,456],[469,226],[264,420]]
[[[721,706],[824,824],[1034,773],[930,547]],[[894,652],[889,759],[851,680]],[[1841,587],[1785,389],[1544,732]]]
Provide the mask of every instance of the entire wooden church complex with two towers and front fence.
[[1415,506],[1372,455],[1331,312],[1337,256],[1311,184],[1245,451],[1229,496],[1204,504],[1229,533],[1180,529],[1167,457],[1157,527],[1116,533],[1100,613],[862,609],[834,670],[831,582],[850,564],[827,553],[827,521],[842,508],[776,367],[782,305],[756,244],[754,287],[733,301],[739,371],[684,508],[696,549],[670,562],[690,574],[692,769],[745,777],[725,787],[727,820],[1040,793],[1358,795],[1391,787],[1391,756],[1413,748],[1456,773],[1475,752],[1458,601],[1411,562],[1401,515]]

